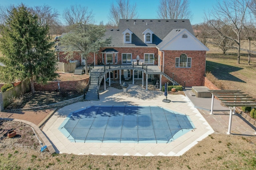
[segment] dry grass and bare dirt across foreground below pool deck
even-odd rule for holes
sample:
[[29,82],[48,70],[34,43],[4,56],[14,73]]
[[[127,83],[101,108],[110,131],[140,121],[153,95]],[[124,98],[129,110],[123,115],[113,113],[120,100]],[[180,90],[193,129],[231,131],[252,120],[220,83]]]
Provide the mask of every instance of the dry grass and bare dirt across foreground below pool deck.
[[[14,138],[3,137],[16,129]],[[2,169],[255,169],[256,138],[212,134],[182,156],[99,156],[40,152],[31,127],[17,122],[0,124]],[[44,145],[43,145],[44,146]]]

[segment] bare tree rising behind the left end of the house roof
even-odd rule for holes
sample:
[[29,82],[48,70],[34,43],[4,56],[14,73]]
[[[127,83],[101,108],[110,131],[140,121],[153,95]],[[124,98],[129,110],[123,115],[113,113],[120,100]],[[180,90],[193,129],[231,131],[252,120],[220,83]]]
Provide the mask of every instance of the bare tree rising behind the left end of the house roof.
[[116,0],[117,5],[112,3],[108,20],[110,23],[118,27],[120,19],[138,18],[136,3],[131,5],[130,0]]

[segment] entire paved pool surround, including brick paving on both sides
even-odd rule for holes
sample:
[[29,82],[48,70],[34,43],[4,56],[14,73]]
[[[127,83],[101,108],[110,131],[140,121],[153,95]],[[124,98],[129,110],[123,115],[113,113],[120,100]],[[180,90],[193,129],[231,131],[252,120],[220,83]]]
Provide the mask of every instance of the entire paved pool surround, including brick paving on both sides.
[[[112,87],[100,93],[100,101],[78,102],[69,106],[62,107],[54,113],[55,109],[46,109],[39,111],[20,111],[16,113],[0,112],[1,119],[10,119],[17,121],[28,121],[27,124],[34,123],[40,126],[52,113],[52,117],[46,122],[43,133],[39,128],[38,134],[42,133],[44,145],[53,146],[52,152],[73,153],[73,154],[97,154],[97,155],[136,155],[136,156],[179,156],[188,149],[204,139],[211,133],[227,134],[229,109],[220,105],[214,99],[214,114],[210,114],[210,98],[193,98],[190,94],[190,88],[186,88],[182,95],[168,95],[170,103],[162,102],[165,99],[164,92],[159,90],[148,90],[138,85],[129,84],[127,93]],[[188,94],[190,93],[190,94]],[[184,113],[190,116],[196,129],[186,133],[179,139],[167,143],[71,143],[58,127],[66,116],[87,106],[161,106],[166,109]],[[220,107],[220,108],[218,108]],[[196,109],[198,108],[198,109]],[[228,111],[220,111],[226,109]],[[36,116],[35,116],[36,115]],[[18,120],[20,119],[20,120]],[[210,126],[209,126],[210,124]],[[256,125],[250,124],[240,114],[232,116],[231,135],[256,136]],[[44,140],[47,139],[47,140]],[[48,140],[49,139],[49,140]],[[55,149],[55,150],[54,150]],[[52,153],[51,152],[51,153]]]

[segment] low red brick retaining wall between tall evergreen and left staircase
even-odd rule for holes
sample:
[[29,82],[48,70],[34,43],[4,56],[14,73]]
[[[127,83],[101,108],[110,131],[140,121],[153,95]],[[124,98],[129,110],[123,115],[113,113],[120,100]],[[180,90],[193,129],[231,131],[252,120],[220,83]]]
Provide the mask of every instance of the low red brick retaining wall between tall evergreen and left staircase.
[[[60,81],[60,90],[61,91],[69,91],[69,90],[75,90],[76,89],[76,84],[80,81],[86,81],[88,83],[89,77],[82,79],[82,80],[75,80],[75,81]],[[35,90],[42,90],[42,91],[58,91],[58,82],[49,82],[48,84],[45,85],[40,85],[40,84],[34,84]]]

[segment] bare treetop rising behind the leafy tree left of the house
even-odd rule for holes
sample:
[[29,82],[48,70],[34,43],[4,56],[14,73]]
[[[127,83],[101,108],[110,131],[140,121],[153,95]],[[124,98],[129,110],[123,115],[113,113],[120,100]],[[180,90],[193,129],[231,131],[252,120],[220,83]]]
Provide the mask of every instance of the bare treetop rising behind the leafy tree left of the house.
[[66,8],[62,16],[68,25],[94,22],[92,11],[89,11],[88,7],[80,5],[70,6],[70,8]]

